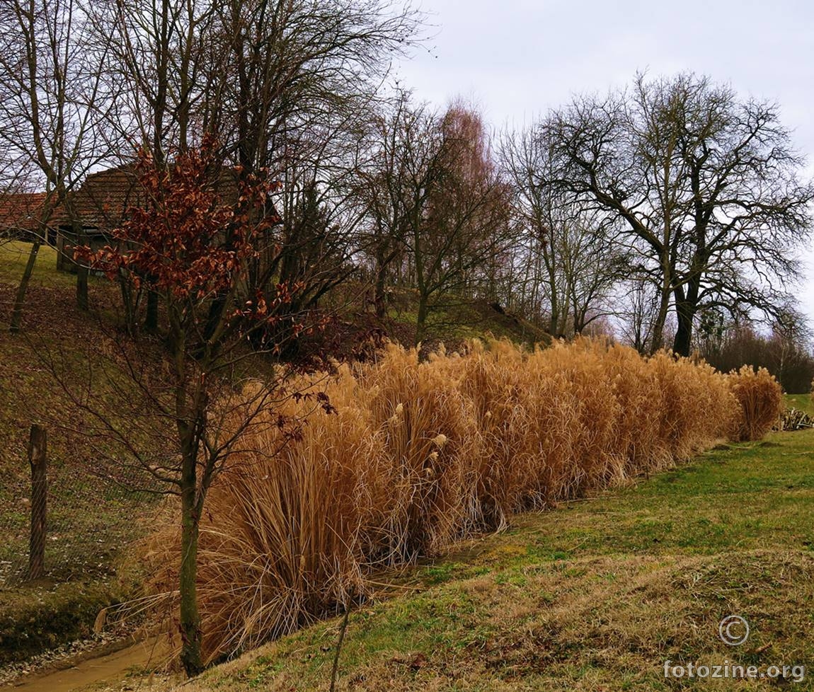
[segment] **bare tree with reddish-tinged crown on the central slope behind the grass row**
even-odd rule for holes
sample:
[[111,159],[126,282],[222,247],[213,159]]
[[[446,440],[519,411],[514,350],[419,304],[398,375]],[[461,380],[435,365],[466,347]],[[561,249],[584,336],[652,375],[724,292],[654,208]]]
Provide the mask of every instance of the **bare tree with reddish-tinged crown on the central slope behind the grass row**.
[[377,282],[402,251],[418,292],[415,342],[442,296],[473,296],[508,235],[508,195],[480,116],[456,104],[442,116],[400,99],[380,125],[368,171]]

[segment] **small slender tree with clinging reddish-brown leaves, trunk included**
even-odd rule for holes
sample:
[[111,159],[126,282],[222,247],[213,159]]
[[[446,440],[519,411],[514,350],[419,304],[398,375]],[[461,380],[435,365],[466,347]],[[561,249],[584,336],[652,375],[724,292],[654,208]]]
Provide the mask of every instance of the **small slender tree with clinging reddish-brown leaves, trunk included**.
[[[250,336],[252,344],[269,351],[280,348],[278,341],[271,344],[254,337],[258,332],[278,335],[274,315],[291,296],[289,287],[282,285],[276,288],[278,305],[245,293],[247,265],[260,255],[261,239],[278,222],[269,204],[278,183],[225,169],[213,151],[205,144],[179,155],[167,167],[142,154],[142,198],[147,205],[130,210],[129,220],[114,233],[115,244],[98,252],[87,247],[77,252],[108,278],[124,278],[155,292],[164,313],[163,373],[144,374],[133,366],[138,353],[133,352],[132,341],[125,345],[124,339],[116,339],[116,349],[128,364],[124,371],[137,384],[130,390],[141,395],[141,413],[133,410],[129,420],[119,412],[114,420],[98,413],[98,407],[85,410],[102,423],[108,437],[125,446],[142,470],[167,488],[165,492],[180,497],[181,658],[189,675],[203,668],[196,574],[199,519],[208,489],[239,453],[244,433],[260,425],[260,418],[269,420],[260,413],[267,414],[281,398],[294,393],[286,391],[278,366],[265,368],[263,386],[253,387],[250,395],[239,385],[243,364],[256,357]],[[296,324],[295,330],[300,327]],[[326,401],[319,403],[329,407]],[[160,462],[139,449],[133,436],[135,418],[171,438],[165,440],[168,453]],[[288,421],[271,419],[288,435],[295,434]]]

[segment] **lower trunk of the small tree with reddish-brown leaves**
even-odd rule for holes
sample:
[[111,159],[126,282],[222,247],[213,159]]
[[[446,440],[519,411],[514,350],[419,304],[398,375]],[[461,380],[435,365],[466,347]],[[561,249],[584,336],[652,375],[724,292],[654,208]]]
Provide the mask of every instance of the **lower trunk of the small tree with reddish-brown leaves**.
[[181,663],[188,677],[204,670],[201,659],[201,620],[198,611],[198,532],[199,516],[195,502],[195,458],[184,455],[181,490],[181,569],[178,589],[181,597]]

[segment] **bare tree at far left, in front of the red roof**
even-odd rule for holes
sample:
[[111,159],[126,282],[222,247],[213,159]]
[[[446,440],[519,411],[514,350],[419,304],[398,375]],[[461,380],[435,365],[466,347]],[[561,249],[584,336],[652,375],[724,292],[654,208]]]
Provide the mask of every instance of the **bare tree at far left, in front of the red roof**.
[[[90,31],[77,0],[9,0],[0,5],[0,139],[21,172],[46,190],[42,227],[55,208],[81,240],[83,227],[71,192],[107,160],[106,110],[113,96],[104,71],[108,46]],[[29,266],[42,238],[33,243]],[[20,328],[25,288],[20,283],[12,327]],[[77,268],[77,303],[87,309],[87,267]]]

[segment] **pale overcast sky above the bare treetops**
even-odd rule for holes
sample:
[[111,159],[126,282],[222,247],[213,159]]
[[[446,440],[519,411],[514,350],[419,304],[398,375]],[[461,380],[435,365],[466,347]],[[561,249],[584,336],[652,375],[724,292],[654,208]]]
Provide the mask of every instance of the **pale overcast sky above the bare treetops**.
[[[418,99],[443,107],[462,95],[492,125],[519,126],[637,70],[692,70],[777,101],[814,174],[811,0],[423,0],[422,9],[435,36],[397,68]],[[814,247],[805,257],[798,294],[814,322]]]

